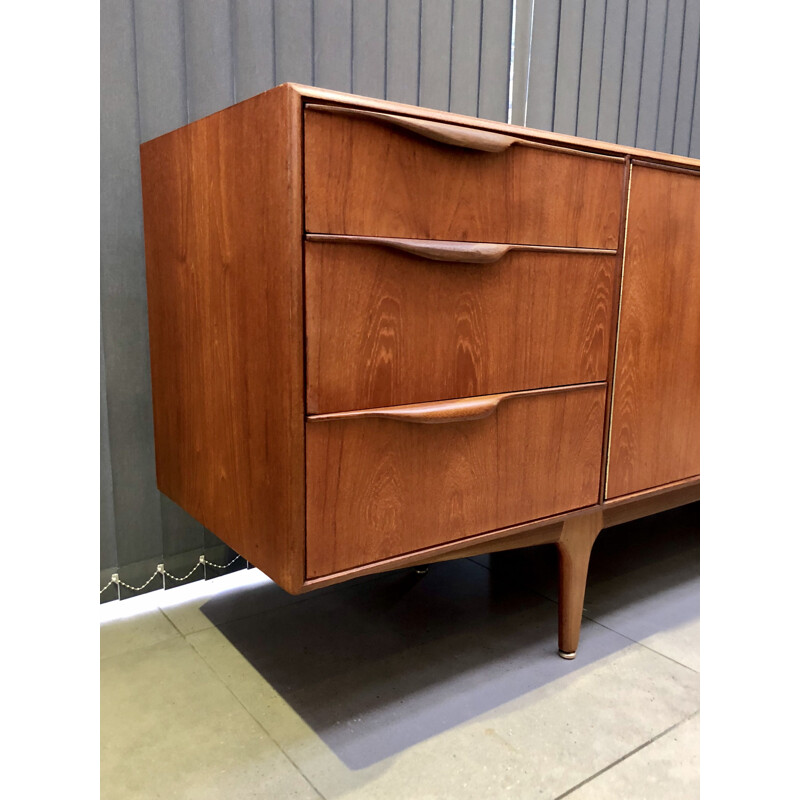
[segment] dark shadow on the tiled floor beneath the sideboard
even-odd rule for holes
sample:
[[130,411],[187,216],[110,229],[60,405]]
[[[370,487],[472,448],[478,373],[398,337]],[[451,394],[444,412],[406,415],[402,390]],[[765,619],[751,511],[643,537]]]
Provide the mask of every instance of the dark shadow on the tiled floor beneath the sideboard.
[[[595,545],[587,614],[622,610],[637,640],[688,622],[698,574],[699,504],[609,529]],[[202,610],[360,769],[631,644],[596,616],[603,624],[584,620],[578,658],[558,658],[554,590],[557,555],[543,546],[434,564],[424,576],[385,573],[234,621],[214,599]]]

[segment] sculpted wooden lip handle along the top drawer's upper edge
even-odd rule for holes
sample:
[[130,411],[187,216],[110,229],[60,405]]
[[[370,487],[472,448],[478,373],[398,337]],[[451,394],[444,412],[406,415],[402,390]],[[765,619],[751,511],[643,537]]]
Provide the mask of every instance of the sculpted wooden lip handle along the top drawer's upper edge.
[[520,131],[521,135],[510,135],[508,133],[490,130],[486,127],[479,127],[475,124],[477,122],[476,119],[472,119],[469,124],[461,120],[443,122],[441,120],[426,119],[419,113],[419,111],[423,109],[417,109],[416,114],[395,114],[387,112],[385,108],[382,110],[367,110],[363,107],[356,107],[352,103],[343,103],[342,101],[325,103],[306,102],[305,108],[310,111],[327,112],[329,114],[339,114],[341,116],[362,117],[384,125],[395,125],[400,128],[405,128],[418,136],[442,142],[451,147],[462,147],[486,153],[500,153],[516,144],[523,147],[532,147],[537,150],[550,150],[566,155],[598,158],[603,161],[618,161],[621,163],[625,160],[624,155],[612,155],[595,150],[582,150],[568,145],[538,141],[530,137],[526,129]]

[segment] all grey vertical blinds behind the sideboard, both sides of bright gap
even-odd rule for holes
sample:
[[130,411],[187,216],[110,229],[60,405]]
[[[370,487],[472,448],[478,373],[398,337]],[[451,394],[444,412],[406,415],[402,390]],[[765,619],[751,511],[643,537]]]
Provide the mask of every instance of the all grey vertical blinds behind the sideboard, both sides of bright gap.
[[138,586],[160,562],[180,576],[200,553],[233,555],[156,489],[140,142],[284,81],[506,120],[511,76],[515,122],[697,152],[697,0],[533,11],[532,0],[103,1],[101,586],[112,572]]

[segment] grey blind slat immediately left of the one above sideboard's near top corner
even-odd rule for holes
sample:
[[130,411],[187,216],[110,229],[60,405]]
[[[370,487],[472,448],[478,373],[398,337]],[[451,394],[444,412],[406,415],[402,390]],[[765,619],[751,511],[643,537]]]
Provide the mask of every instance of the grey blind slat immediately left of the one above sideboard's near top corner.
[[275,85],[272,0],[233,0],[233,77],[238,100]]

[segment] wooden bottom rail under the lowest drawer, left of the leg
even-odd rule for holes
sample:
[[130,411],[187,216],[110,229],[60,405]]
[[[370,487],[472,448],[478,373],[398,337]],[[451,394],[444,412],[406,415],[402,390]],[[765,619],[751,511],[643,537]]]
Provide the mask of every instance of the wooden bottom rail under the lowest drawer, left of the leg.
[[[362,575],[388,572],[402,567],[413,567],[417,564],[433,564],[437,561],[450,561],[454,558],[466,558],[467,556],[483,555],[500,550],[512,550],[516,547],[552,544],[557,542],[561,536],[561,527],[564,520],[582,516],[592,511],[596,512],[597,506],[588,506],[587,508],[556,514],[533,522],[512,525],[508,528],[499,528],[488,533],[480,533],[455,542],[447,542],[424,550],[415,550],[412,553],[392,556],[381,561],[374,561],[371,564],[363,564],[341,572],[323,575],[319,578],[310,578],[305,581],[299,591],[300,593],[309,592],[313,589],[331,586]],[[502,546],[498,546],[501,544]]]

